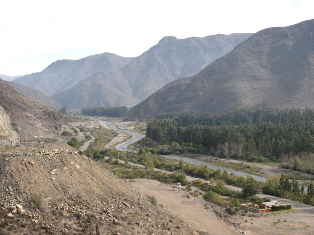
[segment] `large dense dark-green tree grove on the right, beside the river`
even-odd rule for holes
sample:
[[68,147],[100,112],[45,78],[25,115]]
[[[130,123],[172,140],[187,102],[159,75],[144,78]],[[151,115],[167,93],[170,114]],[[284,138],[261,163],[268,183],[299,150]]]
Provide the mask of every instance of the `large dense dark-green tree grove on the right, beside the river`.
[[314,112],[265,105],[225,114],[193,113],[152,119],[146,136],[159,144],[178,142],[219,157],[282,162],[283,166],[313,173]]

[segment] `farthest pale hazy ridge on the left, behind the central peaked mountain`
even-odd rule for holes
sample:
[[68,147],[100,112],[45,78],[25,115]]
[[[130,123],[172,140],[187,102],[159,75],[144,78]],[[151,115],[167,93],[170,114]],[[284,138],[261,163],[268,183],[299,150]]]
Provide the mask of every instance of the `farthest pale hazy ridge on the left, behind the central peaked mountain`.
[[79,60],[58,60],[43,71],[19,77],[14,82],[51,96],[97,72],[120,69],[131,59],[105,52]]

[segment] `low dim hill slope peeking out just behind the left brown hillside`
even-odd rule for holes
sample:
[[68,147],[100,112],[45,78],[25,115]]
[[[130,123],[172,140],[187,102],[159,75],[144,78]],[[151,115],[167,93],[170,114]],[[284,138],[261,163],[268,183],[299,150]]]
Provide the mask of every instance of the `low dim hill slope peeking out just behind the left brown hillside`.
[[61,105],[59,103],[35,89],[28,88],[15,82],[6,81],[6,83],[18,93],[25,95],[26,97],[36,101],[37,103],[40,103],[57,111],[59,111],[61,108]]

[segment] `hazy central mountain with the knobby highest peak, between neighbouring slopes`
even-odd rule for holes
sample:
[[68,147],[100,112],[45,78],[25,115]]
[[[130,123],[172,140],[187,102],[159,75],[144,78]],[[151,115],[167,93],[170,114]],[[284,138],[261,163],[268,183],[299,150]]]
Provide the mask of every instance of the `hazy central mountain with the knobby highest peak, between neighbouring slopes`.
[[52,98],[69,108],[132,106],[165,84],[201,71],[250,35],[164,37],[121,69],[98,72]]

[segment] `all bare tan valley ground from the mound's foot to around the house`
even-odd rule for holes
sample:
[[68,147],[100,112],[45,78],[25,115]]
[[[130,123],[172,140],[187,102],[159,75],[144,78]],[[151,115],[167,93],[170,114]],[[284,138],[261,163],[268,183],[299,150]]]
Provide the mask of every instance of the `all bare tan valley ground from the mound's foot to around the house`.
[[[213,235],[236,235],[237,231],[219,219],[212,210],[219,211],[219,207],[201,197],[186,197],[186,192],[177,190],[175,185],[163,184],[148,179],[127,179],[127,184],[149,196],[155,196],[158,204],[173,215],[182,219],[197,230],[205,230]],[[265,194],[266,197],[281,203],[281,199]],[[291,204],[291,211],[276,211],[269,213],[252,213],[245,215],[239,211],[228,217],[238,224],[246,235],[312,235],[314,234],[314,207],[302,203],[283,200],[283,204]]]

